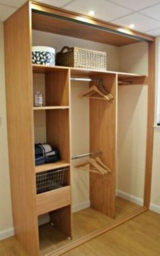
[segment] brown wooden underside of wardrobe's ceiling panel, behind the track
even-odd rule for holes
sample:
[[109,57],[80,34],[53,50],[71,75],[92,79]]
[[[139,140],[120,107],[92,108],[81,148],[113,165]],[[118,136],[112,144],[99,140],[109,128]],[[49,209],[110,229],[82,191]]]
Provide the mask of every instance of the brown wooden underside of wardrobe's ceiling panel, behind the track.
[[74,38],[81,38],[103,44],[112,44],[114,46],[124,46],[138,42],[133,38],[126,38],[124,35],[116,35],[102,29],[89,27],[80,23],[62,20],[43,14],[33,13],[33,29],[47,31],[49,33],[58,33]]

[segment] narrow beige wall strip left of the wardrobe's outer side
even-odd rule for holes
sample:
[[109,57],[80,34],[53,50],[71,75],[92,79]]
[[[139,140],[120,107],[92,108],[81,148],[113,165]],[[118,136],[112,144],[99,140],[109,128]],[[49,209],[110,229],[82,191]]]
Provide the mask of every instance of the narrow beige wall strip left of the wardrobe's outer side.
[[[7,130],[5,110],[5,74],[3,54],[3,23],[0,23],[0,237],[1,231],[12,227],[10,177],[7,152]],[[12,124],[14,125],[14,124]]]

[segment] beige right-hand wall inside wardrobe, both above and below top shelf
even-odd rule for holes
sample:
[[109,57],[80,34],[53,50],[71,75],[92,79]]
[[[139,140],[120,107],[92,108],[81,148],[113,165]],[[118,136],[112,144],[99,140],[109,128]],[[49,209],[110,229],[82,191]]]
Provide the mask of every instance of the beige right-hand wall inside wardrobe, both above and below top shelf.
[[[146,43],[120,48],[120,70],[148,73]],[[142,199],[146,158],[147,86],[118,87],[117,190]]]

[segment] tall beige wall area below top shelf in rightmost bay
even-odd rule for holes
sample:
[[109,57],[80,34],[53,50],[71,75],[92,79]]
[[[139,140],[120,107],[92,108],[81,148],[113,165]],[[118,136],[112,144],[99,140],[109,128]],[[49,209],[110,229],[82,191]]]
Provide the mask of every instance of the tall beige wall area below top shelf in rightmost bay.
[[146,160],[147,86],[118,88],[117,189],[143,198]]

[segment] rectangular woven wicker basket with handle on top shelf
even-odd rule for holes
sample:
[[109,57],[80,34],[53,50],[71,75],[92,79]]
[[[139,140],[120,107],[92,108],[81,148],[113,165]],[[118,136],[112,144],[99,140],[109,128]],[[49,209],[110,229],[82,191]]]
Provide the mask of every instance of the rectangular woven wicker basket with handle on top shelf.
[[[66,51],[67,50],[67,51]],[[106,53],[84,48],[64,46],[56,55],[57,66],[106,70]]]

